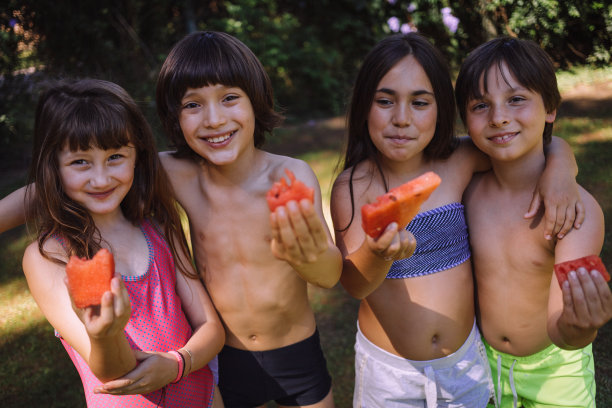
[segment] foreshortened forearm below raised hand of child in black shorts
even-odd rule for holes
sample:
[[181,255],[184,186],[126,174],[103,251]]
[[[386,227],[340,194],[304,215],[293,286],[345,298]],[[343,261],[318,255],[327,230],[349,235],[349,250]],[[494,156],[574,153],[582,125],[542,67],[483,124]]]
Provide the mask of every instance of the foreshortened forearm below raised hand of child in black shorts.
[[322,288],[331,288],[340,279],[342,254],[335,245],[329,244],[327,250],[320,254],[316,261],[292,266],[308,283]]

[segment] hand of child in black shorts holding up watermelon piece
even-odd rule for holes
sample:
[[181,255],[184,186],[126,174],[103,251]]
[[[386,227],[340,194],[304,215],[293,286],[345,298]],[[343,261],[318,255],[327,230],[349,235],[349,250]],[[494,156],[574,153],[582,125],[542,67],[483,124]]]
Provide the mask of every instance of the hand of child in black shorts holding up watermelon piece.
[[293,266],[316,262],[328,249],[323,222],[307,199],[277,207],[270,214],[270,226],[272,253]]

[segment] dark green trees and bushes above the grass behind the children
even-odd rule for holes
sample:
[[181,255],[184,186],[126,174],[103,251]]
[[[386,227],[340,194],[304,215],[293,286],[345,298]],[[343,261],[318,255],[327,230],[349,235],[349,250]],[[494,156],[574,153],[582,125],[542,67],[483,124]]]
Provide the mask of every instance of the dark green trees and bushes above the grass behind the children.
[[117,82],[141,103],[163,147],[155,79],[188,32],[222,30],[244,41],[292,120],[342,114],[366,52],[407,28],[428,36],[454,69],[501,34],[539,42],[563,68],[612,58],[612,4],[603,0],[8,0],[0,11],[0,151],[26,146],[31,134],[40,77],[23,68]]

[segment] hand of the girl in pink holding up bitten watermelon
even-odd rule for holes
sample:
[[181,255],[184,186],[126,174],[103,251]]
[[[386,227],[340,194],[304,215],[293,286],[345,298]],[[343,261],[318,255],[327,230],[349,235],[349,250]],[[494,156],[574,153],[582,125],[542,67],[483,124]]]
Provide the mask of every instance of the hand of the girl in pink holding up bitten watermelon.
[[111,280],[111,290],[104,292],[99,306],[85,308],[72,307],[85,325],[91,338],[103,339],[122,333],[130,320],[131,304],[123,279],[115,275]]

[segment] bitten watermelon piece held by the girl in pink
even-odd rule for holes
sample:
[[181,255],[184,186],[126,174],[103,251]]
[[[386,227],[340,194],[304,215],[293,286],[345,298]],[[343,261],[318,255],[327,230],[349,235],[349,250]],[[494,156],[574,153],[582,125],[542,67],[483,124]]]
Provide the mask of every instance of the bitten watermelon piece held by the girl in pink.
[[91,260],[71,256],[66,265],[68,290],[78,308],[99,305],[115,275],[113,254],[102,248]]

